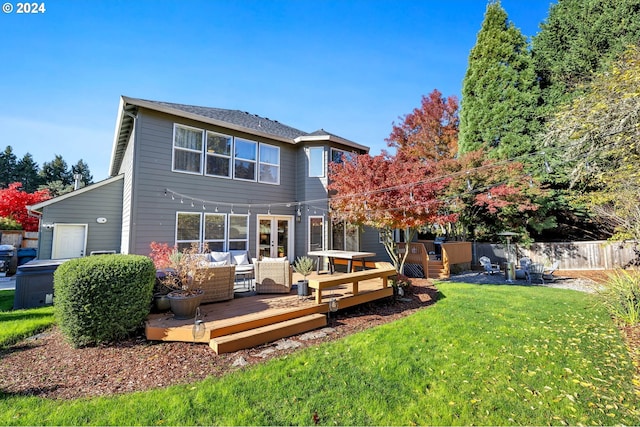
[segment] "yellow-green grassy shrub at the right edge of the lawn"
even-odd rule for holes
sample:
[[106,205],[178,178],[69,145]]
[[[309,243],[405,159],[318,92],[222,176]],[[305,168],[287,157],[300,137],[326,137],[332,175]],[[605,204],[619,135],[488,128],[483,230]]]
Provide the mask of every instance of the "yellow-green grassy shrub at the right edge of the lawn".
[[609,275],[605,288],[599,294],[617,321],[627,325],[640,322],[639,270],[618,270]]

